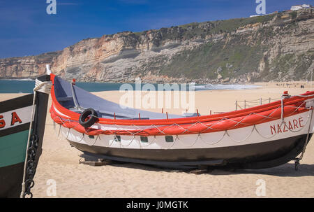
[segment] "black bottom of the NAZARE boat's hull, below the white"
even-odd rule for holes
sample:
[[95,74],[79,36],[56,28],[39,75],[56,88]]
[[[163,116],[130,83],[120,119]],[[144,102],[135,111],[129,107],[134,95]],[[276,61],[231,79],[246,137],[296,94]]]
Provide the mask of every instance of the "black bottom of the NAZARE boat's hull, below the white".
[[[88,146],[69,141],[84,155],[116,160],[152,164],[161,167],[197,167],[200,165],[225,166],[240,169],[276,167],[294,160],[306,142],[306,134],[287,139],[222,148],[195,148],[170,150],[143,150]],[[312,134],[309,136],[311,139]]]

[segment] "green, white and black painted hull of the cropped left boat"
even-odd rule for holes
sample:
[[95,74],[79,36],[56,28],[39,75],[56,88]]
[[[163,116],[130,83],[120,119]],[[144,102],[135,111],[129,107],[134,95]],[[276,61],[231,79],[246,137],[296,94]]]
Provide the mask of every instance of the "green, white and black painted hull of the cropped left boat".
[[[41,80],[49,80],[43,76]],[[38,136],[34,168],[42,152],[49,94],[36,92],[32,132]],[[2,101],[0,104],[0,197],[20,197],[24,161],[31,122],[33,94]]]

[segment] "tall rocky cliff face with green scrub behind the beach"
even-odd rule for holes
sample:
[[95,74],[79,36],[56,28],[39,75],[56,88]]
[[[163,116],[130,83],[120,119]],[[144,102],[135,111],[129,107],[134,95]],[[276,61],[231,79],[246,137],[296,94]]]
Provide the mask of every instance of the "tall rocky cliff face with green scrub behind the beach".
[[306,80],[313,61],[309,9],[87,38],[58,52],[0,59],[0,77],[35,77],[51,64],[54,74],[81,81]]

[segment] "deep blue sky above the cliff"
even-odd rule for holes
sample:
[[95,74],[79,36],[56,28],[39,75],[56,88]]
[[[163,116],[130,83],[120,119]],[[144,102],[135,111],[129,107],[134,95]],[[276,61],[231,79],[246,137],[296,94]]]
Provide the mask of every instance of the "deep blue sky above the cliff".
[[[255,0],[0,0],[0,58],[62,50],[84,38],[255,15]],[[266,0],[266,12],[314,0]]]

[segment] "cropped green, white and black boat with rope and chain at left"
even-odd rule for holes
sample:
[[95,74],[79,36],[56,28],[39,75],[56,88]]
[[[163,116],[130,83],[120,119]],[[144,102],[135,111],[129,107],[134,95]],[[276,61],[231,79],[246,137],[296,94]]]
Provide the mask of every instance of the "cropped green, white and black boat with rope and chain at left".
[[32,197],[50,87],[40,76],[33,94],[0,102],[0,197]]

